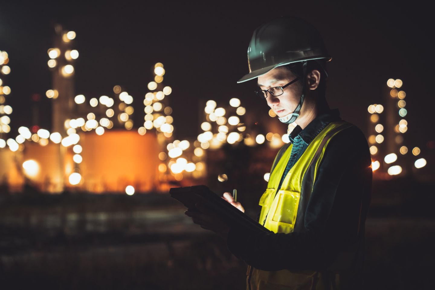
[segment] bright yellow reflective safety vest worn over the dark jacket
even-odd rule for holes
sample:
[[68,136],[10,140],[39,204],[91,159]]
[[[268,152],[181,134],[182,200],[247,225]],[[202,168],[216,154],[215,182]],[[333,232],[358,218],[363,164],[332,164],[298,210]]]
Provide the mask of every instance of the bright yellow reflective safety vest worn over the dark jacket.
[[[307,197],[311,196],[318,166],[331,139],[341,130],[353,126],[345,121],[329,123],[311,141],[299,160],[284,178],[277,190],[281,176],[290,159],[292,144],[284,145],[275,157],[266,191],[260,198],[262,206],[259,223],[274,233],[291,233],[297,219],[305,216]],[[276,193],[276,194],[275,194]],[[304,205],[301,203],[301,193]],[[303,218],[298,220],[303,225]],[[348,262],[349,257],[344,258]],[[312,289],[324,290],[323,273],[317,271],[264,271],[248,266],[247,290]],[[338,274],[337,274],[338,275]],[[339,280],[339,277],[334,277]],[[338,282],[338,281],[337,281]],[[335,283],[335,281],[334,281]]]

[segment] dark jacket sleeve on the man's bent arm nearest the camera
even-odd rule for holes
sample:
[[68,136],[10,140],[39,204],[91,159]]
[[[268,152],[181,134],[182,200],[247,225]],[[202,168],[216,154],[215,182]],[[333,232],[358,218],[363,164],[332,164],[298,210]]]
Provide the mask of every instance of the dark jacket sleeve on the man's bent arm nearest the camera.
[[228,249],[260,270],[327,267],[357,238],[361,210],[366,212],[361,200],[371,191],[370,166],[370,152],[361,130],[354,126],[339,132],[328,144],[318,167],[305,211],[305,232],[265,233],[231,228]]

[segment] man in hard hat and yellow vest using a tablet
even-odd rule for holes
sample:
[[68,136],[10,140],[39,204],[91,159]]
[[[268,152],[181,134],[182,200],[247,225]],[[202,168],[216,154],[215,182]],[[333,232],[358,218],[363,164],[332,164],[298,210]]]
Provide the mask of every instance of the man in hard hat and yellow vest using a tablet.
[[[318,31],[296,17],[258,27],[249,73],[283,123],[296,123],[261,196],[258,222],[273,233],[234,228],[205,205],[186,214],[220,234],[248,263],[247,289],[360,289],[371,156],[364,134],[325,99],[326,60]],[[229,193],[224,199],[244,211]]]

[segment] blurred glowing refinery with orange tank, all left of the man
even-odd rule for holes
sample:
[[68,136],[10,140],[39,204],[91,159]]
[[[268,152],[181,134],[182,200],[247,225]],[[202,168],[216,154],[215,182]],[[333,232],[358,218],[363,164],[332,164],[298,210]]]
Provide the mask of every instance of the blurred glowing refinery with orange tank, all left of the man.
[[[143,113],[134,110],[133,97],[119,85],[113,87],[109,96],[86,97],[76,94],[74,89],[74,63],[79,57],[73,45],[75,38],[74,31],[64,30],[57,24],[54,47],[47,51],[52,88],[45,96],[52,104],[51,128],[39,126],[38,115],[43,112],[35,107],[33,124],[18,128],[18,134],[10,132],[12,108],[7,105],[6,97],[11,89],[0,79],[0,113],[3,115],[0,118],[0,183],[3,187],[10,192],[31,186],[47,193],[68,190],[131,195],[166,192],[170,187],[201,183],[205,179],[209,184],[226,182],[230,173],[234,181],[235,167],[219,166],[222,160],[228,159],[225,153],[228,150],[223,145],[243,147],[244,151],[249,147],[268,151],[270,154],[261,154],[270,155],[268,160],[260,162],[263,164],[261,175],[268,180],[270,163],[276,153],[270,148],[278,150],[289,140],[288,132],[282,132],[282,127],[264,120],[267,115],[258,118],[247,113],[236,97],[224,103],[219,100],[219,104],[214,100],[204,101],[199,104],[200,126],[197,128],[202,133],[196,140],[177,140],[173,135],[173,109],[167,97],[172,88],[163,84],[163,64],[156,63],[151,68],[153,79],[144,94]],[[6,52],[1,52],[0,60],[1,72],[9,74]],[[40,94],[33,96],[35,100],[39,98]],[[135,127],[132,116],[138,113],[144,115],[144,123]],[[276,117],[272,110],[269,116]],[[209,164],[207,151],[213,152]],[[214,158],[219,156],[222,160]],[[238,157],[233,159],[238,160]],[[258,166],[254,168],[258,170]]]

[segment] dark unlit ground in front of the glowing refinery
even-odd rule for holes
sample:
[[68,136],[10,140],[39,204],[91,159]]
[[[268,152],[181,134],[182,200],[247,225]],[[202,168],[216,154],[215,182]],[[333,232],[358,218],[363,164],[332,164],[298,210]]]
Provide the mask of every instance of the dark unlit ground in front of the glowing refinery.
[[[375,187],[365,289],[433,289],[435,199],[426,187]],[[0,289],[245,287],[246,264],[167,194],[0,199]]]

